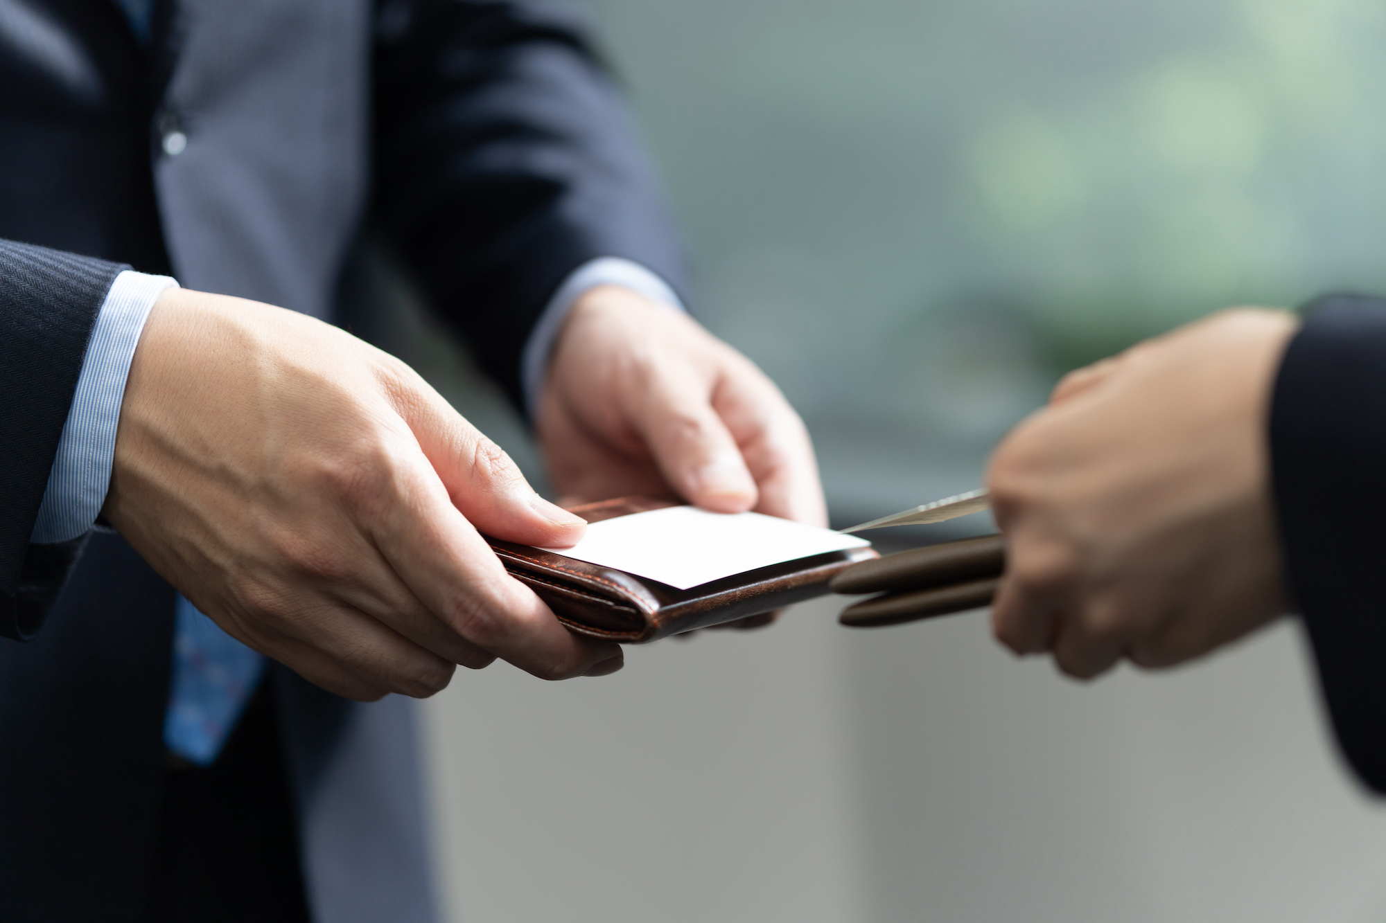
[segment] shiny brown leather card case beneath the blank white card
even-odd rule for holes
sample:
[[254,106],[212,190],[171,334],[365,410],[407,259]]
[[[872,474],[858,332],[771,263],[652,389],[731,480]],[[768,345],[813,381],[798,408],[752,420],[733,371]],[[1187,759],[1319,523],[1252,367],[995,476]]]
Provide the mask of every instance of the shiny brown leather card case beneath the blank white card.
[[[588,522],[678,506],[672,500],[618,498],[568,507]],[[640,644],[697,628],[760,615],[826,596],[829,582],[859,561],[880,557],[854,547],[733,574],[686,590],[528,545],[486,536],[496,557],[527,583],[570,631]]]

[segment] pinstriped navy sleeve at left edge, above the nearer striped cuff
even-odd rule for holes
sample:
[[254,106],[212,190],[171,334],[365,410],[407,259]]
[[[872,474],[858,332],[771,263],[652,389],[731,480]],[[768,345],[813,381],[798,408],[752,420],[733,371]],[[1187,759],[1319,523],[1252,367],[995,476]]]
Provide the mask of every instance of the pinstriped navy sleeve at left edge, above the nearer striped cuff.
[[30,546],[87,340],[125,266],[0,241],[0,636],[32,638],[78,543]]

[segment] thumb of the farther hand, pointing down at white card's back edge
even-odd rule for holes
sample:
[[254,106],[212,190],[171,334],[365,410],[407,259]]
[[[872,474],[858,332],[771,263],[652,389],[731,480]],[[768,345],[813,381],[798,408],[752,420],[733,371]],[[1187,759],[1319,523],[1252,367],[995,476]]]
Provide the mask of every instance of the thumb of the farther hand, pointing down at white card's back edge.
[[686,500],[715,513],[743,513],[760,491],[742,449],[705,388],[664,381],[651,388],[636,428],[664,478]]

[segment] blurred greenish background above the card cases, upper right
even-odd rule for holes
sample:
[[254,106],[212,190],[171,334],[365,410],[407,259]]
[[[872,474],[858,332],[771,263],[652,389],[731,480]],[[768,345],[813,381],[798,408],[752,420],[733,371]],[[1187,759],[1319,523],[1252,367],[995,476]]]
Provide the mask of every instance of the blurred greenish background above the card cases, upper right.
[[834,520],[976,486],[1059,374],[1232,304],[1386,290],[1369,0],[592,0],[696,309]]

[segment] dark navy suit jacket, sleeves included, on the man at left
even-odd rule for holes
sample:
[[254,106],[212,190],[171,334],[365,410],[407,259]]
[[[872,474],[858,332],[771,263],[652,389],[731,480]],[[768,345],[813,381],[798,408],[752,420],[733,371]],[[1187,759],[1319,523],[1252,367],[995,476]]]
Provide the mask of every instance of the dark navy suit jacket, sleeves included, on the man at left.
[[[173,130],[190,141],[168,157]],[[180,0],[141,49],[111,0],[6,4],[0,919],[152,919],[183,784],[161,739],[172,588],[115,535],[28,542],[105,290],[129,265],[330,316],[366,222],[511,398],[572,269],[625,256],[681,281],[625,107],[559,7]],[[270,687],[265,746],[315,919],[430,919],[407,703],[356,705],[287,671]],[[180,899],[215,920],[229,898]]]

